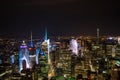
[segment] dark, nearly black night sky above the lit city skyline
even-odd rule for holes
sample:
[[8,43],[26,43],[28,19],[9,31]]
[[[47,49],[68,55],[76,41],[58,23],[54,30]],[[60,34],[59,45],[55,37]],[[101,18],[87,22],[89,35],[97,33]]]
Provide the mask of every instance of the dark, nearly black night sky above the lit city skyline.
[[0,36],[120,35],[120,6],[116,0],[4,0],[0,7]]

